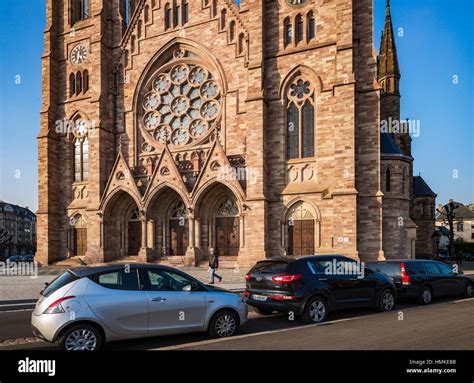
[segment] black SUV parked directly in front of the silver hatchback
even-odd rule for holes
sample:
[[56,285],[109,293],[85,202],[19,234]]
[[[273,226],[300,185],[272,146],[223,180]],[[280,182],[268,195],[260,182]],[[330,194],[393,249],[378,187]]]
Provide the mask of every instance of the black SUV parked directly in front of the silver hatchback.
[[246,280],[246,302],[260,314],[294,312],[307,323],[324,321],[332,310],[390,311],[395,305],[396,288],[390,278],[341,255],[266,259],[247,273]]

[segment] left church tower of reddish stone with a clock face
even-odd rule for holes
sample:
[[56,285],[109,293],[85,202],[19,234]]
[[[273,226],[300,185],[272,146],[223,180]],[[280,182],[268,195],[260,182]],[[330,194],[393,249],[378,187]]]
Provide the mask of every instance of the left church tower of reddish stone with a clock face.
[[[47,0],[38,135],[38,260],[99,251],[96,219],[113,163],[114,46],[119,3]],[[97,236],[97,238],[95,238]]]

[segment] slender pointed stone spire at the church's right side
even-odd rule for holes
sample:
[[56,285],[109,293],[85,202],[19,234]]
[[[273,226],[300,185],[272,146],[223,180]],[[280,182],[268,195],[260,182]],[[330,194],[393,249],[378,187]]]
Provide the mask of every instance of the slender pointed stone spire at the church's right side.
[[393,34],[390,0],[387,0],[385,28],[380,43],[378,78],[385,93],[399,93],[400,68],[398,66],[397,47]]

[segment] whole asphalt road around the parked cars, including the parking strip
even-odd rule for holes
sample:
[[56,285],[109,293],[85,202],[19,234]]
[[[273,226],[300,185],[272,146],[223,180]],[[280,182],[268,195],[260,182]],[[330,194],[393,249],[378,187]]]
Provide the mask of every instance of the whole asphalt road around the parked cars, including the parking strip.
[[[403,320],[400,320],[400,313]],[[8,332],[31,336],[31,311],[0,313],[2,336]],[[284,315],[250,319],[239,336],[226,340],[209,340],[206,334],[137,339],[106,344],[110,350],[200,349],[200,350],[474,350],[474,298],[444,299],[430,306],[401,303],[390,313],[371,310],[333,313],[329,322],[302,326]],[[4,325],[5,324],[5,325]],[[11,337],[10,337],[11,338]],[[45,342],[10,345],[2,349],[55,349]]]

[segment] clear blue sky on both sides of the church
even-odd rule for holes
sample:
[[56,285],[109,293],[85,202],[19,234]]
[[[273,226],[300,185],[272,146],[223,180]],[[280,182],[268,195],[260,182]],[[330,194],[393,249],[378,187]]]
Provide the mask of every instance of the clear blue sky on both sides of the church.
[[[385,0],[374,3],[378,50]],[[397,36],[402,118],[421,124],[413,140],[415,174],[421,172],[439,202],[474,202],[474,2],[391,4],[396,32],[403,29]],[[0,199],[35,210],[44,0],[0,1],[0,14]]]

